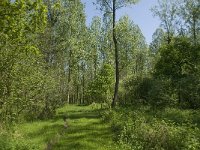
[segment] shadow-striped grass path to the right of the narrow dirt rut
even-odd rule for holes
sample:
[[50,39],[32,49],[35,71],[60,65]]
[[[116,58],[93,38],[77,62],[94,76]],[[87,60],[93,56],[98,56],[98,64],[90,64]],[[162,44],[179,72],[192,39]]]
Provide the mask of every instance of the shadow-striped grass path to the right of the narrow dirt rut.
[[[55,150],[93,150],[112,141],[109,128],[102,124],[96,110],[67,111],[69,127],[59,142],[53,145]],[[58,117],[62,117],[63,113]]]

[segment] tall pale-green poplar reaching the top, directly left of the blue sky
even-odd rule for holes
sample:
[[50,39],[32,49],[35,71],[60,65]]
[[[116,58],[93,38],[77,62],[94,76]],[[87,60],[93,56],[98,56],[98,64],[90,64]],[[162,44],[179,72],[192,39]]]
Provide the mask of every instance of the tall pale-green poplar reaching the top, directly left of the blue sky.
[[[60,3],[61,14],[55,24],[56,51],[58,51],[58,61],[60,61],[61,70],[67,78],[65,80],[64,93],[66,93],[66,102],[74,99],[74,93],[77,89],[77,71],[80,68],[85,55],[86,25],[84,6],[80,0],[62,0]],[[78,70],[79,68],[79,70]],[[81,74],[81,72],[79,72]],[[80,80],[79,80],[80,81]],[[78,95],[78,94],[76,94]]]

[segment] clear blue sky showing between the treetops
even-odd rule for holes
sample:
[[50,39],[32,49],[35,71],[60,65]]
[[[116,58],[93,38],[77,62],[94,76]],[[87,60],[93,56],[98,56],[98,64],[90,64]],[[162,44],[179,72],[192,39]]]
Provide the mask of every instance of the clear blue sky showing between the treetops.
[[[93,16],[101,16],[101,12],[96,10],[96,6],[92,4],[95,0],[81,0],[85,4],[87,16],[87,25],[91,23]],[[132,7],[122,8],[117,11],[117,18],[128,15],[135,24],[138,24],[143,35],[149,44],[152,40],[152,34],[159,27],[160,21],[153,17],[150,8],[156,5],[157,0],[140,0],[139,3]]]

